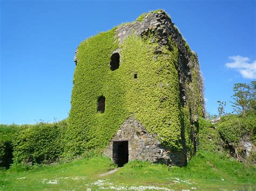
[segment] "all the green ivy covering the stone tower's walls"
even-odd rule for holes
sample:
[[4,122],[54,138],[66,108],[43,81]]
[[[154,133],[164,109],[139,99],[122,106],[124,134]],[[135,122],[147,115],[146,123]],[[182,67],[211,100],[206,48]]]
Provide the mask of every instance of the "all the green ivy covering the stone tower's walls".
[[[155,27],[151,27],[156,26],[151,24],[154,21],[149,23],[146,17],[157,20],[161,15],[169,22],[166,13],[154,11],[135,22],[137,25],[122,25],[130,30],[129,34],[122,32],[126,35],[122,41],[118,39],[120,27],[116,27],[79,45],[66,131],[66,155],[106,147],[129,116],[138,119],[149,133],[157,133],[161,144],[172,150],[193,150],[192,122],[197,117],[192,114],[204,115],[203,93],[199,87],[203,85],[198,84],[199,64],[196,54],[185,47],[185,40],[176,28],[177,38],[181,39],[177,41],[166,34],[165,43],[160,43],[163,39],[154,31]],[[140,29],[136,29],[145,22],[149,23],[149,30],[139,34]],[[120,53],[120,66],[112,71],[111,54],[116,50]],[[186,63],[182,64],[191,75],[182,74],[183,80],[179,67],[181,52],[186,56]],[[106,98],[104,113],[97,111],[100,96]]]

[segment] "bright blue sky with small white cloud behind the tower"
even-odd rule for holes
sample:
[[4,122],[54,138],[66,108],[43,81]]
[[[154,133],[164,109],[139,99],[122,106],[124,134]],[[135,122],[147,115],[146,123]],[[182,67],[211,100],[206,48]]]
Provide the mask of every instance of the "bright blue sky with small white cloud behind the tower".
[[73,56],[90,36],[164,9],[205,79],[206,108],[231,112],[234,83],[255,80],[255,1],[1,1],[0,123],[31,124],[68,117]]

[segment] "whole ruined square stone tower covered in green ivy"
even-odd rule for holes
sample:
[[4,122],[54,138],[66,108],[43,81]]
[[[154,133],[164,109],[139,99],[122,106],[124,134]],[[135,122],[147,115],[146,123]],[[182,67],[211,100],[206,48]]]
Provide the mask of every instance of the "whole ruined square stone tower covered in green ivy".
[[144,13],[86,39],[75,62],[66,152],[102,148],[119,166],[186,164],[204,87],[198,56],[169,15]]

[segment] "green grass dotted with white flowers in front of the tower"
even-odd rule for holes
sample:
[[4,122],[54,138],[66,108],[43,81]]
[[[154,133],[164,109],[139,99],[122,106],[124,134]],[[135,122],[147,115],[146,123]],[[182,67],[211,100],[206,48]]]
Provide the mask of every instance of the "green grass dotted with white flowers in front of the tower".
[[256,189],[255,167],[223,155],[200,151],[186,167],[131,161],[117,172],[109,158],[76,159],[65,164],[11,167],[0,174],[0,190],[42,189]]

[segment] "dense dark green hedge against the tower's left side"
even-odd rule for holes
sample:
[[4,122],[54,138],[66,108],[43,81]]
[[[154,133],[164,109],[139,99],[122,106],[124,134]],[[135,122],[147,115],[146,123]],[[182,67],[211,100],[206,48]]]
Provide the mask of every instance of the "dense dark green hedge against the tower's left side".
[[58,123],[25,125],[12,140],[14,164],[49,163],[60,158],[64,151],[67,120]]

